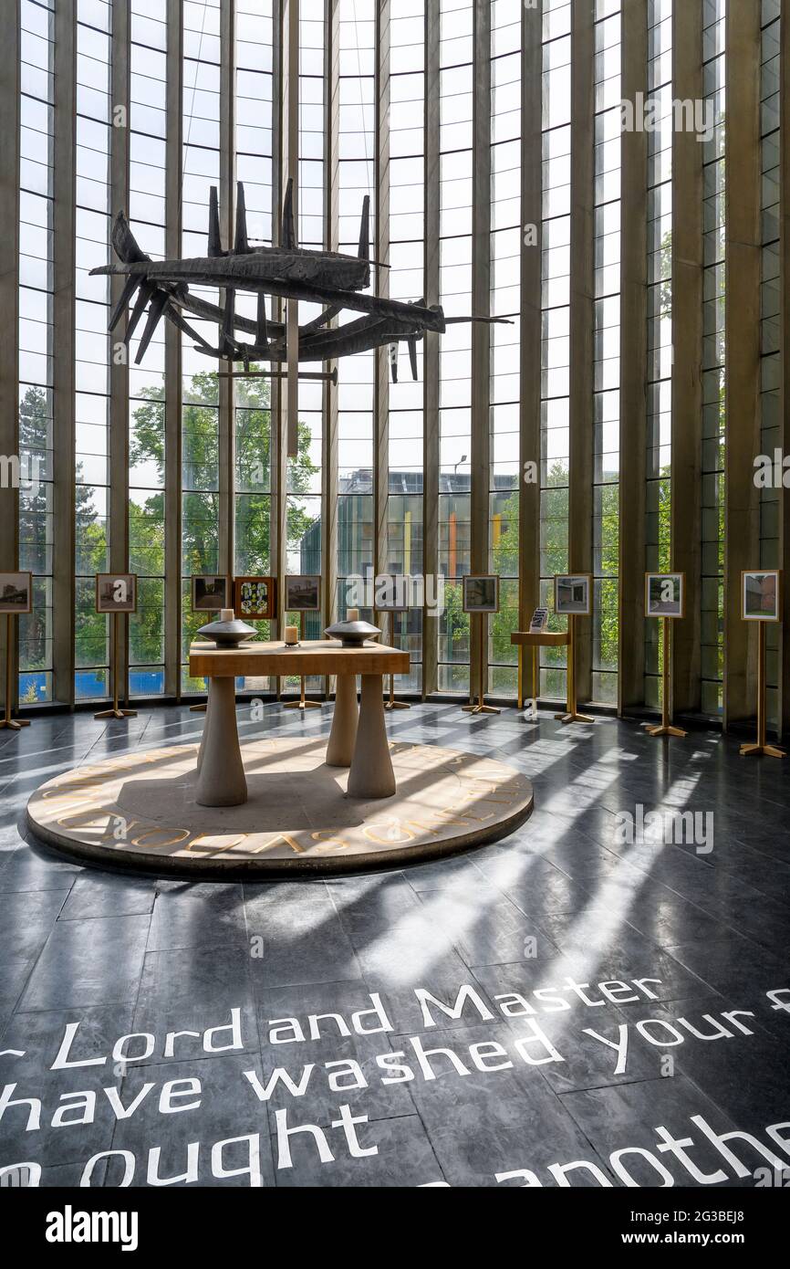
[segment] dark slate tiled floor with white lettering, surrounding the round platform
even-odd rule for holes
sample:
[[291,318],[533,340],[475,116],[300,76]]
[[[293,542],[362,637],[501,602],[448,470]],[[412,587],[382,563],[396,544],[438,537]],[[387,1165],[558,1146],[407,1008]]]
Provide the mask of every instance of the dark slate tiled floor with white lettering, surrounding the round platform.
[[[247,732],[328,721],[240,708]],[[0,732],[0,1086],[41,1099],[4,1110],[0,1165],[42,1185],[408,1187],[752,1187],[790,1166],[790,1131],[767,1131],[790,1121],[785,764],[713,733],[666,747],[614,720],[424,706],[393,736],[533,779],[506,841],[236,886],[85,871],[20,835],[43,780],[200,726],[161,708]],[[713,812],[713,849],[619,840],[638,806]],[[89,1065],[58,1067],[65,1034]]]

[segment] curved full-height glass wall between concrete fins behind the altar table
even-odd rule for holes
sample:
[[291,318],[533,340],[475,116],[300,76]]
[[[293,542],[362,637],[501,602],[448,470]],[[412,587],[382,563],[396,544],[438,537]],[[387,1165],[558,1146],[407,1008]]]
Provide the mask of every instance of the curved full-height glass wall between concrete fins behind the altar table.
[[[212,250],[227,250],[235,233],[237,180],[245,188],[249,244],[257,247],[278,239],[280,190],[274,185],[282,110],[279,89],[275,100],[280,52],[275,24],[282,5],[275,0],[181,0],[169,5],[128,0],[128,27],[124,23],[122,30],[117,24],[115,37],[110,29],[113,8],[112,0],[74,0],[72,5],[57,9],[56,24],[56,0],[19,3],[19,449],[23,473],[30,458],[39,477],[38,486],[23,481],[19,491],[19,567],[36,575],[34,612],[20,622],[23,702],[49,702],[56,692],[68,699],[72,690],[76,702],[85,704],[109,695],[109,632],[107,619],[95,613],[94,575],[109,569],[110,562],[122,566],[120,539],[126,538],[127,528],[128,562],[123,567],[138,576],[138,612],[129,621],[132,695],[164,697],[176,683],[188,694],[204,690],[202,680],[189,678],[186,657],[195,631],[212,609],[204,603],[193,612],[193,576],[313,575],[321,574],[331,560],[339,582],[337,594],[331,596],[332,607],[337,600],[337,615],[344,617],[350,577],[364,579],[374,567],[382,572],[421,575],[426,557],[436,558],[431,567],[445,582],[444,613],[437,622],[429,623],[429,637],[435,646],[427,650],[427,656],[422,609],[416,607],[394,618],[392,640],[408,648],[411,656],[410,674],[399,676],[396,685],[401,692],[467,694],[469,621],[463,613],[462,581],[473,556],[473,400],[476,426],[487,429],[479,449],[484,450],[484,439],[489,457],[488,472],[481,471],[478,477],[483,485],[474,486],[474,514],[479,514],[478,529],[481,539],[487,537],[488,556],[479,561],[477,551],[474,556],[481,567],[501,577],[501,610],[488,628],[488,688],[500,697],[515,695],[516,656],[510,637],[519,622],[520,538],[526,534],[531,541],[533,532],[539,532],[539,594],[549,609],[553,577],[568,570],[572,556],[569,316],[578,286],[571,278],[574,214],[571,170],[572,136],[574,154],[583,136],[583,145],[591,150],[586,159],[593,160],[593,216],[591,220],[586,216],[583,226],[577,227],[580,249],[583,247],[578,258],[587,260],[583,265],[587,268],[590,250],[595,269],[592,363],[583,368],[585,378],[592,374],[586,431],[592,487],[583,499],[585,514],[590,511],[585,538],[591,529],[595,576],[591,694],[593,702],[614,706],[623,669],[619,659],[626,659],[618,629],[618,511],[619,504],[626,504],[631,496],[620,489],[619,452],[620,350],[629,339],[629,332],[621,329],[620,311],[620,235],[629,216],[620,192],[624,0],[592,0],[591,52],[587,30],[582,38],[574,36],[573,13],[581,10],[572,0],[543,0],[540,10],[517,5],[515,0],[391,0],[388,4],[337,0],[336,8],[328,9],[320,4],[302,5],[299,245],[309,251],[331,242],[340,251],[356,255],[363,201],[368,195],[372,255],[384,256],[373,263],[370,293],[378,288],[398,301],[420,301],[426,288],[432,293],[435,287],[435,279],[426,279],[426,261],[432,268],[437,258],[437,298],[450,325],[437,346],[437,409],[432,392],[425,392],[421,339],[416,340],[417,381],[412,379],[408,348],[402,343],[397,345],[397,382],[389,382],[387,388],[382,385],[380,392],[377,392],[377,367],[383,369],[387,359],[394,357],[392,345],[385,345],[380,354],[363,352],[344,357],[337,362],[336,388],[327,388],[321,378],[301,378],[298,452],[285,462],[279,461],[282,454],[278,458],[282,420],[273,411],[276,396],[273,379],[266,374],[240,373],[241,363],[235,367],[237,373],[230,387],[219,377],[227,365],[219,368],[213,354],[226,303],[223,291],[193,286],[191,298],[203,305],[198,313],[188,311],[194,334],[174,332],[162,321],[141,365],[134,357],[146,313],[137,313],[139,321],[127,371],[120,365],[123,354],[118,343],[126,316],[122,315],[114,335],[109,336],[107,330],[119,283],[107,275],[90,277],[91,269],[113,259],[110,230],[122,207],[139,246],[152,259],[165,258],[174,242],[183,256],[205,255],[213,188],[218,193],[224,240]],[[760,0],[761,118],[760,135],[754,135],[762,162],[760,443],[768,456],[781,447],[780,8],[779,0]],[[331,49],[325,25],[327,11],[332,13],[332,30],[337,36],[337,47]],[[689,496],[682,472],[676,472],[677,489],[672,487],[671,468],[672,214],[673,203],[677,204],[672,148],[673,99],[678,95],[673,84],[677,52],[672,48],[673,0],[647,0],[638,11],[647,23],[644,105],[651,112],[644,173],[647,487],[644,542],[639,547],[644,546],[647,569],[668,570],[672,499]],[[700,695],[703,711],[715,716],[722,713],[724,700],[725,329],[729,325],[729,338],[737,340],[742,316],[727,313],[725,303],[725,169],[728,162],[732,165],[725,146],[725,0],[705,0],[700,14],[703,105],[714,113],[715,132],[699,151],[704,169],[703,448],[701,478],[694,476],[694,496],[701,509]],[[581,16],[585,23],[588,20]],[[429,25],[436,22],[436,29]],[[530,22],[539,27],[530,28]],[[56,25],[67,37],[67,48],[58,53],[60,105],[53,95]],[[430,46],[437,46],[437,76],[431,84],[426,82],[426,30]],[[522,30],[528,32],[526,41]],[[539,128],[536,121],[533,124],[521,117],[524,46],[528,58],[531,57],[533,33],[538,30],[543,90]],[[127,39],[128,47],[113,47],[113,38]],[[179,65],[174,66],[169,57],[179,46]],[[583,71],[592,77],[593,119],[585,121],[583,131],[574,135],[572,90],[576,86],[578,99],[588,82],[573,79],[573,60],[582,51],[590,60]],[[124,123],[114,115],[127,100],[127,61]],[[114,66],[122,72],[119,85],[112,84]],[[639,110],[642,103],[635,105]],[[67,113],[57,115],[58,109]],[[66,146],[60,155],[55,154],[56,119],[58,137],[68,138],[74,126],[74,154]],[[181,188],[175,192],[174,179],[167,199],[169,165],[179,145]],[[524,296],[521,277],[529,270],[522,269],[522,253],[531,247],[522,223],[521,164],[522,156],[530,165],[538,161],[538,145],[540,294]],[[126,162],[127,150],[124,170],[120,160]],[[738,176],[735,173],[733,178],[732,171],[728,175]],[[278,183],[279,179],[278,175]],[[682,175],[678,171],[678,181],[687,179],[685,169]],[[74,207],[67,197],[71,180]],[[437,208],[436,244],[426,242],[426,207],[431,214]],[[377,211],[385,217],[379,233]],[[474,242],[477,277],[474,225],[479,228]],[[55,293],[56,265],[58,279],[74,278],[74,327],[71,296],[60,287],[60,280]],[[488,294],[481,294],[487,269]],[[0,286],[8,284],[8,278],[0,279]],[[580,284],[586,288],[587,279]],[[256,297],[238,293],[235,302],[250,334],[259,311]],[[536,311],[538,305],[540,444],[539,454],[530,454],[521,453],[520,440],[521,313]],[[282,317],[280,308],[279,301],[268,299],[273,330]],[[483,321],[487,316],[505,321],[476,326],[465,320],[474,308],[481,310],[476,316]],[[299,302],[302,324],[320,317],[318,306]],[[330,320],[347,324],[356,321],[358,313],[345,310]],[[57,371],[53,358],[61,327],[67,332],[70,348],[74,338],[74,367],[67,367],[66,373]],[[474,398],[473,332],[478,340],[476,349],[487,338],[491,353],[487,383],[474,385]],[[166,349],[167,365],[172,376],[180,374],[180,382],[172,377],[166,381]],[[581,350],[580,355],[588,354]],[[330,367],[302,363],[301,368],[314,374]],[[268,371],[269,364],[261,359],[251,369]],[[65,385],[60,396],[58,373],[60,383]],[[58,419],[65,419],[67,429],[67,439],[63,442],[61,433],[57,447],[52,423],[55,400]],[[71,401],[74,452],[68,428]],[[426,415],[426,404],[434,416]],[[335,423],[336,434],[330,434]],[[534,423],[538,425],[538,420]],[[732,420],[732,425],[737,426],[738,420]],[[127,431],[128,454],[124,453]],[[474,439],[477,443],[478,438]],[[431,456],[427,473],[426,452]],[[127,458],[126,476],[118,486],[124,490],[128,482],[126,508],[118,501],[110,505],[114,496],[110,454],[115,463],[118,456]],[[524,464],[533,459],[539,459],[538,509],[535,524],[530,520],[524,527],[519,523],[520,481]],[[332,470],[326,468],[327,461]],[[56,499],[58,481],[62,483],[57,485]],[[425,506],[426,487],[437,489],[436,508]],[[328,491],[335,496],[335,490],[336,506],[330,509]],[[530,499],[524,499],[524,508],[529,508],[525,514],[531,516]],[[431,530],[435,541],[430,543],[425,542],[424,527],[434,523],[434,514],[426,511],[436,515],[436,528]],[[781,515],[780,490],[763,489],[760,541],[765,567],[780,567],[784,562]],[[278,516],[284,537],[278,529]],[[377,516],[382,523],[377,523]],[[56,522],[66,524],[70,532],[74,528],[75,536],[75,602],[74,607],[58,605],[58,612],[52,585]],[[66,549],[71,553],[70,546]],[[172,561],[178,579],[167,575],[167,561]],[[57,567],[62,567],[60,558]],[[65,586],[63,594],[68,589]],[[435,594],[436,579],[426,579],[426,589],[429,595]],[[356,607],[363,608],[364,615],[377,615],[359,600]],[[67,615],[65,608],[70,609]],[[282,615],[303,621],[307,637],[320,636],[328,618],[327,612],[304,618],[295,613]],[[166,618],[172,664],[165,647]],[[74,665],[67,660],[71,621]],[[563,624],[552,618],[552,628]],[[269,622],[259,627],[264,634],[274,633]],[[178,654],[176,633],[180,633]],[[588,637],[587,631],[582,637]],[[648,622],[644,702],[652,707],[659,704],[661,638],[661,623]],[[777,631],[768,632],[774,721],[779,709],[777,638]],[[426,681],[424,664],[431,666],[434,660],[436,674]],[[540,670],[540,694],[564,698],[564,648],[543,650]],[[314,692],[323,685],[321,679],[309,688]],[[262,692],[274,684],[250,680],[240,687]]]

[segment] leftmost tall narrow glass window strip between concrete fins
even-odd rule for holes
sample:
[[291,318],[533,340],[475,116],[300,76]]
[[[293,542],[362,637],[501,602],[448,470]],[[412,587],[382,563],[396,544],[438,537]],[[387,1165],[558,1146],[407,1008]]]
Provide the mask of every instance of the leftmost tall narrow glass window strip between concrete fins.
[[33,612],[19,619],[23,704],[52,700],[53,9],[20,3],[19,453],[39,481],[19,490],[19,567],[34,574]]

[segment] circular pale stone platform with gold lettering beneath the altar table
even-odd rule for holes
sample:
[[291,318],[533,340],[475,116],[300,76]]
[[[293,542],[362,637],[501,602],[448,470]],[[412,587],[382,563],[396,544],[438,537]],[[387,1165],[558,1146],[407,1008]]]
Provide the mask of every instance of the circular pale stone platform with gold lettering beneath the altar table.
[[33,793],[33,834],[80,862],[183,877],[363,872],[497,841],[533,810],[533,787],[489,758],[393,742],[393,797],[346,794],[326,737],[242,744],[249,801],[195,802],[198,745],[79,766]]

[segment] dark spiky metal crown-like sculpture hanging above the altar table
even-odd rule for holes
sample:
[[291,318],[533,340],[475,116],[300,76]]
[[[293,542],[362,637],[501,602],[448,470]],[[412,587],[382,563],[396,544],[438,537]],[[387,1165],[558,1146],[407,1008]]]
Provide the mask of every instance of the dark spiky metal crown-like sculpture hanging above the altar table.
[[[318,317],[299,326],[299,360],[330,362],[353,353],[366,353],[374,348],[391,345],[391,368],[397,383],[397,349],[408,345],[412,377],[417,378],[417,340],[426,330],[443,334],[453,322],[484,321],[491,317],[445,317],[440,305],[426,307],[424,301],[403,303],[365,294],[370,286],[370,197],[363,202],[359,233],[359,254],[342,255],[337,251],[313,251],[297,245],[293,184],[288,184],[283,206],[280,246],[250,246],[245,211],[245,190],[240,181],[236,199],[236,233],[233,247],[223,250],[219,235],[219,207],[217,189],[209,195],[208,254],[185,260],[152,260],[138,246],[123,212],[113,223],[112,244],[120,264],[103,265],[91,273],[126,275],[118,303],[110,316],[109,329],[114,330],[132,297],[137,298],[123,336],[129,345],[146,308],[148,316],[139,338],[136,364],[142,362],[146,349],[162,317],[195,341],[195,349],[207,357],[230,363],[242,363],[249,371],[251,362],[287,362],[287,326],[266,316],[266,296],[322,305]],[[212,305],[190,294],[189,287],[219,287],[224,291],[224,303]],[[255,319],[236,312],[236,292],[257,296]],[[341,326],[330,324],[344,311],[363,316]],[[184,316],[191,313],[202,321],[217,322],[218,346],[212,345]],[[245,340],[243,335],[252,335]]]

